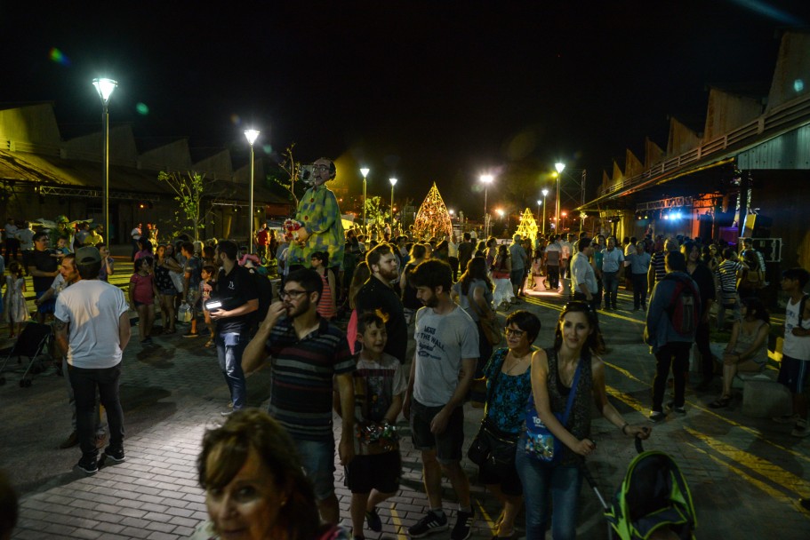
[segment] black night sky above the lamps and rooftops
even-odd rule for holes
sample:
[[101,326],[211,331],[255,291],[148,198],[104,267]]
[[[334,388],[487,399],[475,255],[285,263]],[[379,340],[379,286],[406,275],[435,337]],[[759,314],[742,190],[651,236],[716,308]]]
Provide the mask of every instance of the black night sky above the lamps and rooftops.
[[[83,134],[106,75],[111,122],[136,137],[238,155],[256,127],[269,155],[294,142],[301,160],[367,165],[370,195],[397,176],[420,203],[436,181],[475,214],[492,172],[490,204],[534,207],[556,161],[593,189],[625,148],[644,159],[645,136],[665,148],[668,115],[702,123],[708,84],[767,88],[806,4],[4,1],[0,102],[53,101],[64,136]],[[536,189],[510,193],[521,175]]]

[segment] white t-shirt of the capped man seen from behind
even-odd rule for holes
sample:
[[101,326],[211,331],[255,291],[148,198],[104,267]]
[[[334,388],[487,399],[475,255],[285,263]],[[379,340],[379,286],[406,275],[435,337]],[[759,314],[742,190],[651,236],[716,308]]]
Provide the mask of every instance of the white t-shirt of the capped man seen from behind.
[[81,280],[56,298],[55,317],[68,323],[68,364],[105,369],[121,361],[118,319],[129,306],[124,292],[99,280]]

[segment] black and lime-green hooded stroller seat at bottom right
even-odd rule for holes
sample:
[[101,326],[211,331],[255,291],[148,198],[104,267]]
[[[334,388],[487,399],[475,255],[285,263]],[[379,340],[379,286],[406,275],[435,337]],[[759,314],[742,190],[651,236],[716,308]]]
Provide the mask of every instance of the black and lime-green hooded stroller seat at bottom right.
[[697,527],[686,478],[670,456],[656,451],[630,462],[605,518],[621,540],[648,538],[662,528],[686,540],[694,538]]

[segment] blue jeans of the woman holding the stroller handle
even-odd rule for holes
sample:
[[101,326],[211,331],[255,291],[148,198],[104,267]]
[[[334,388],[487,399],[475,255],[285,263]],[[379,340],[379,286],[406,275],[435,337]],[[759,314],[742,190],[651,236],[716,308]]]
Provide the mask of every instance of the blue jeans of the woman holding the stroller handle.
[[[579,467],[549,466],[526,456],[525,435],[517,442],[515,465],[523,483],[526,540],[542,540],[551,523],[554,540],[576,537],[577,499],[582,485]],[[554,506],[552,516],[551,506]]]

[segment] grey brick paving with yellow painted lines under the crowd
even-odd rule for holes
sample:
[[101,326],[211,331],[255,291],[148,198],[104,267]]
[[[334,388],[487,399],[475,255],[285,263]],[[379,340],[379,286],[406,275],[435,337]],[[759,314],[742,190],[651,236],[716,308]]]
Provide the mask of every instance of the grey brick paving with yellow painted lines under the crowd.
[[[622,293],[620,306],[626,308],[630,301]],[[522,306],[541,317],[539,345],[550,344],[549,329],[560,304],[556,296],[538,296]],[[654,360],[640,343],[641,315],[620,310],[600,314],[600,321],[611,348],[605,355],[609,392],[630,422],[642,421],[649,408]],[[188,536],[205,519],[196,455],[205,428],[221,421],[219,412],[229,401],[227,386],[215,353],[203,347],[204,338],[177,334],[155,340],[152,349],[142,350],[134,343],[124,355],[121,393],[127,461],[104,466],[92,477],[72,471],[77,449],[57,449],[70,429],[64,379],[49,369],[35,376],[30,388],[20,388],[17,374],[4,373],[9,380],[0,386],[4,418],[0,464],[21,496],[14,538],[172,539]],[[249,377],[251,405],[266,402],[268,378],[264,370]],[[790,429],[769,421],[743,417],[739,401],[720,412],[708,409],[705,403],[716,395],[690,388],[686,417],[670,417],[655,425],[646,444],[648,449],[670,453],[686,474],[698,507],[698,536],[806,540],[810,514],[798,509],[796,498],[810,495],[810,440],[790,437]],[[467,406],[468,441],[481,414]],[[340,433],[339,426],[335,433]],[[609,498],[635,450],[603,419],[594,421],[593,431],[598,450],[589,469]],[[405,529],[426,510],[418,453],[409,441],[402,447],[403,485],[400,494],[381,508],[380,538],[405,538]],[[464,466],[474,480],[475,468],[466,459]],[[348,524],[350,496],[341,487],[340,467],[336,479],[341,515]],[[498,509],[493,497],[477,485],[473,497],[478,512],[473,537],[489,538]],[[448,485],[445,509],[454,515],[452,498]],[[587,484],[581,493],[579,522],[581,538],[606,537],[601,507]]]

